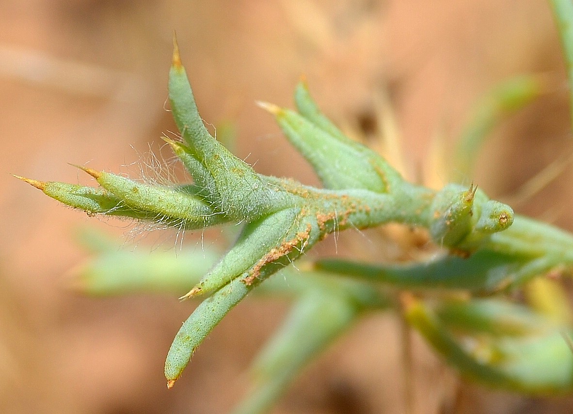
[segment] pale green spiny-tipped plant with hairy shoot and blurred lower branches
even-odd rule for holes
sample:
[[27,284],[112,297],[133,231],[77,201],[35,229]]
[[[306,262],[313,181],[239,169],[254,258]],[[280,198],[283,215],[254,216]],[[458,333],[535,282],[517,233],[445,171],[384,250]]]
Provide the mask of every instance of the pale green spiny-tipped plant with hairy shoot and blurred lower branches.
[[[194,184],[143,184],[111,172],[84,168],[99,187],[21,178],[66,206],[103,214],[202,229],[241,223],[233,246],[209,270],[185,273],[168,267],[151,277],[135,262],[123,267],[123,283],[105,277],[110,262],[92,263],[84,289],[92,293],[167,290],[202,302],[183,323],[165,363],[167,387],[223,317],[251,291],[295,300],[286,325],[265,348],[255,387],[238,412],[264,412],[299,372],[367,310],[401,302],[406,320],[462,374],[494,387],[544,393],[573,389],[573,356],[564,319],[550,320],[531,303],[476,299],[520,289],[533,278],[573,265],[573,236],[516,215],[475,184],[448,184],[439,191],[407,182],[386,160],[352,141],[312,100],[307,85],[295,92],[297,111],[261,103],[288,140],[315,169],[323,188],[258,174],[219,143],[203,124],[174,41],[168,96],[182,141],[166,139]],[[421,263],[388,265],[323,259],[293,271],[332,232],[401,223],[425,228],[438,252]],[[113,260],[120,260],[119,257]],[[155,266],[163,258],[150,258]],[[198,261],[190,256],[189,262]],[[142,265],[143,266],[143,265]],[[189,265],[193,267],[193,265]],[[206,269],[205,266],[198,266]],[[105,270],[102,270],[105,269]],[[158,271],[161,272],[162,270]],[[147,275],[142,279],[135,274]],[[277,272],[288,279],[271,278]],[[182,291],[185,289],[185,291]],[[393,292],[409,291],[401,299]],[[466,294],[463,300],[433,292]],[[415,294],[414,294],[414,293]],[[486,337],[486,355],[464,348],[464,338]],[[541,345],[532,345],[531,341]],[[551,372],[545,369],[551,366]]]

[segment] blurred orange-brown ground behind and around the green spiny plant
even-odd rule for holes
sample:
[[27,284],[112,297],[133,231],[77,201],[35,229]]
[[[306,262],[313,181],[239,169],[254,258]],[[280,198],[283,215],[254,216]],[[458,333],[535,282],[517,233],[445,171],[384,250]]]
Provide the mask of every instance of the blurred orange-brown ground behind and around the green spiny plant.
[[[269,300],[242,303],[167,391],[164,357],[194,303],[176,295],[89,298],[69,285],[87,257],[78,228],[106,231],[124,249],[174,256],[175,232],[143,234],[125,222],[88,218],[11,176],[93,185],[68,162],[155,174],[145,166],[155,162],[150,151],[168,160],[160,136],[175,130],[165,107],[173,30],[203,119],[232,123],[237,155],[264,174],[317,184],[254,104],[292,107],[302,74],[329,117],[372,140],[381,121],[377,97],[388,96],[415,180],[430,141],[441,136],[448,147],[480,94],[516,74],[543,73],[552,86],[497,129],[474,182],[503,200],[571,153],[562,54],[543,0],[3,0],[0,12],[2,412],[226,412],[287,309]],[[572,179],[566,168],[516,210],[573,230]],[[206,236],[217,240],[218,233]],[[200,246],[201,234],[187,234],[184,243]],[[405,412],[401,346],[395,317],[366,318],[309,367],[275,412]],[[573,407],[567,397],[466,384],[421,341],[414,348],[418,413]]]

